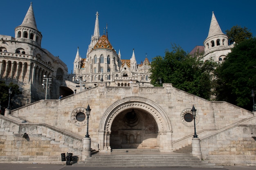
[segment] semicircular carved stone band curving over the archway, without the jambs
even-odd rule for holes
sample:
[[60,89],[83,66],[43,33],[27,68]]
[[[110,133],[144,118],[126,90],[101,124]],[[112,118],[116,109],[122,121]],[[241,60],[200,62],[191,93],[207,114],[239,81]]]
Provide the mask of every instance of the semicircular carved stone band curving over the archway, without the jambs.
[[143,97],[126,97],[112,104],[104,113],[100,125],[99,131],[111,131],[111,125],[115,117],[126,109],[136,108],[144,110],[152,115],[157,123],[159,131],[172,131],[171,121],[168,116],[162,110],[162,108],[155,102],[143,98]]

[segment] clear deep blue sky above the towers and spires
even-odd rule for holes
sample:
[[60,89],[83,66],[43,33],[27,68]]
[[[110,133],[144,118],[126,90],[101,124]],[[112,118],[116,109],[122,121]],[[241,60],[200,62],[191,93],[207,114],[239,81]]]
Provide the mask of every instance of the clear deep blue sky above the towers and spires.
[[256,35],[254,0],[2,0],[0,35],[14,37],[33,2],[41,47],[73,70],[77,46],[86,57],[99,12],[100,34],[108,23],[108,39],[121,59],[130,59],[132,49],[139,64],[146,57],[164,56],[175,43],[187,52],[203,45],[212,11],[222,32],[232,26],[247,27]]

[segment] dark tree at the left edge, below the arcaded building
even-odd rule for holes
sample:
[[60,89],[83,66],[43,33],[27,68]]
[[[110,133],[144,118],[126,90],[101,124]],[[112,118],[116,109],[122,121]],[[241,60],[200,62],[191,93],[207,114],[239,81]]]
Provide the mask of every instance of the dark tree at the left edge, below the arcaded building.
[[[1,102],[1,106],[2,109],[4,110],[4,108],[8,107],[8,102],[9,102],[9,88],[12,88],[12,94],[10,96],[10,98],[12,99],[12,97],[14,95],[19,95],[22,94],[22,92],[19,89],[19,86],[17,84],[13,84],[12,82],[7,86],[5,84],[4,81],[0,81],[0,102]],[[10,102],[10,106],[11,106],[11,102]]]

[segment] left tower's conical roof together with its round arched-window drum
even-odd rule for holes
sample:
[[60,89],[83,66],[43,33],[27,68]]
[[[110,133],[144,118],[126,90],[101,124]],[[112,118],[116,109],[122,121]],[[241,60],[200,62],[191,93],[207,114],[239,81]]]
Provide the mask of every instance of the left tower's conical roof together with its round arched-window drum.
[[32,7],[32,2],[20,26],[15,28],[15,38],[17,41],[29,42],[41,47],[42,34],[36,27],[36,19]]

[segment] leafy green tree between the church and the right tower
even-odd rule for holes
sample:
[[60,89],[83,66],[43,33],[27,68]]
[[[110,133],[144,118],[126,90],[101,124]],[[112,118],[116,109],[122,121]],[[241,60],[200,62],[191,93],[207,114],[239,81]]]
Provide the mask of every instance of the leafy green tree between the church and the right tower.
[[216,63],[203,62],[202,54],[193,57],[180,46],[173,45],[172,51],[166,50],[165,56],[153,58],[150,68],[151,84],[162,86],[162,83],[172,83],[173,87],[210,99],[212,88],[212,72]]

